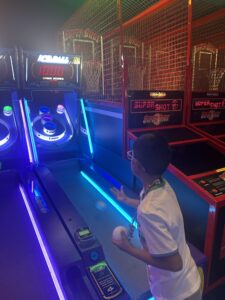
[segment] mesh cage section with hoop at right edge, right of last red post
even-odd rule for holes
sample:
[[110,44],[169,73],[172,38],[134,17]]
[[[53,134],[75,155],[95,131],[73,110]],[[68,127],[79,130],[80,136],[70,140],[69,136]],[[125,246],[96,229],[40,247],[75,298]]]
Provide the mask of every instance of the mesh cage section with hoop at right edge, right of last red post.
[[225,91],[225,1],[195,0],[192,89]]

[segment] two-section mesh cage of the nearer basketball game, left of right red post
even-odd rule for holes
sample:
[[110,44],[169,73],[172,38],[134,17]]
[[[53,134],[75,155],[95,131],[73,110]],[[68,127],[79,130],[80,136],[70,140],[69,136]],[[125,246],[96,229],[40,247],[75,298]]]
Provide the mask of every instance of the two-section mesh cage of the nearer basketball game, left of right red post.
[[187,7],[186,0],[87,1],[61,32],[64,51],[83,58],[83,91],[121,101],[124,89],[184,89]]

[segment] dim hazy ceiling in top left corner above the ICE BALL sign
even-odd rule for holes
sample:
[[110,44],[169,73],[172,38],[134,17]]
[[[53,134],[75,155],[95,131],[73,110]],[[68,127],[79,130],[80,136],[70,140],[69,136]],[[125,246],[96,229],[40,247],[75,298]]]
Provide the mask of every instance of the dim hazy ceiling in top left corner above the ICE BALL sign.
[[0,47],[54,50],[57,30],[85,0],[0,0]]

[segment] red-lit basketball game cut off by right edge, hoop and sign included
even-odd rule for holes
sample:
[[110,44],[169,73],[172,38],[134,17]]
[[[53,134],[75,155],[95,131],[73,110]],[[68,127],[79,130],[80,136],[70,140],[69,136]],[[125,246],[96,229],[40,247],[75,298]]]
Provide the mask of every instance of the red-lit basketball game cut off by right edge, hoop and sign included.
[[225,61],[224,11],[193,21],[192,95],[188,124],[225,147]]

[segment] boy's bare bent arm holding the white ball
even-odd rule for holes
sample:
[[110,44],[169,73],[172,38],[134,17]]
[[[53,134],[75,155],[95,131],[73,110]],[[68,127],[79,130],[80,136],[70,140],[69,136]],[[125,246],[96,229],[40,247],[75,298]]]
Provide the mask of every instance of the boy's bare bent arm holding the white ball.
[[159,269],[178,272],[183,267],[183,262],[178,252],[168,256],[155,257],[150,255],[145,248],[136,248],[130,244],[126,235],[123,235],[122,239],[119,241],[113,240],[113,243],[128,254],[140,259],[148,265],[157,267]]

